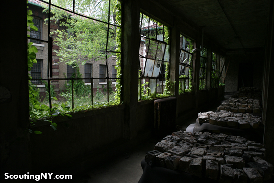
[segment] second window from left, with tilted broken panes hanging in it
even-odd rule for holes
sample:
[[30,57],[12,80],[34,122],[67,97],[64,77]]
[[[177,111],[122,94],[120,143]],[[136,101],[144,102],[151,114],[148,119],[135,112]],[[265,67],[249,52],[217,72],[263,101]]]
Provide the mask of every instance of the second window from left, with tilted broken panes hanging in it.
[[164,93],[165,72],[169,69],[169,45],[166,34],[168,27],[140,13],[140,100],[159,97]]

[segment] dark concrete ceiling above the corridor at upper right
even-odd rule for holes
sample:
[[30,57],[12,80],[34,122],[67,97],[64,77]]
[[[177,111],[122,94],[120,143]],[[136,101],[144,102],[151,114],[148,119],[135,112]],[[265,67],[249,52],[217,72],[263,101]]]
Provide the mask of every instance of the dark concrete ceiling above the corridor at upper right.
[[[226,50],[264,48],[270,0],[163,0]],[[164,5],[164,4],[162,4]]]

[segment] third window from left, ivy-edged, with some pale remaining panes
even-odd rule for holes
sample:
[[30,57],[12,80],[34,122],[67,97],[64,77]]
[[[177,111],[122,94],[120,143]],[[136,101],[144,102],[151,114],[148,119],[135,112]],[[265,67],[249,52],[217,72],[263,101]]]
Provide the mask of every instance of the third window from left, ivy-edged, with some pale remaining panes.
[[179,92],[191,91],[193,41],[183,35],[180,36],[180,65],[179,65]]

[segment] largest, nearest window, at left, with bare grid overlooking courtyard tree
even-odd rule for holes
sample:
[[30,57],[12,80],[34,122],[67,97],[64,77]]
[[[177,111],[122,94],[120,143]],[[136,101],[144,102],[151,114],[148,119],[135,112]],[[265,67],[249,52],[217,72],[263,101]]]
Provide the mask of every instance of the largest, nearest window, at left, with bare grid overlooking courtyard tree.
[[[89,0],[36,0],[27,4],[33,14],[43,17],[33,19],[38,31],[31,31],[28,38],[44,44],[36,45],[37,55],[48,62],[44,63],[41,72],[44,71],[42,80],[48,83],[46,92],[50,97],[39,101],[41,104],[52,108],[53,97],[58,99],[54,103],[67,103],[70,109],[83,105],[99,106],[103,102],[120,103],[121,92],[112,90],[121,86],[120,68],[117,68],[117,76],[111,71],[121,58],[121,3],[117,0],[93,2],[96,3]],[[115,84],[109,78],[115,78]],[[99,84],[102,82],[104,88]],[[44,96],[42,92],[40,95]]]

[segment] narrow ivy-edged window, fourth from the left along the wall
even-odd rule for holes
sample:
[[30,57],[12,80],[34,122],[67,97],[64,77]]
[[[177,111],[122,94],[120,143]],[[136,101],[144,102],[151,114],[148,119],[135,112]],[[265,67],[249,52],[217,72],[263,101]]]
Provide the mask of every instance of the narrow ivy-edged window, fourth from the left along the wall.
[[207,62],[207,48],[203,47],[203,50],[200,52],[200,83],[199,89],[206,89],[206,62]]

